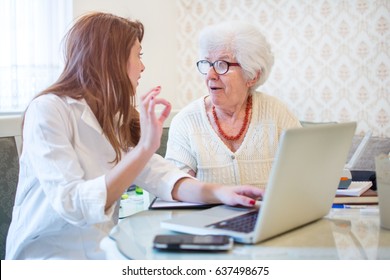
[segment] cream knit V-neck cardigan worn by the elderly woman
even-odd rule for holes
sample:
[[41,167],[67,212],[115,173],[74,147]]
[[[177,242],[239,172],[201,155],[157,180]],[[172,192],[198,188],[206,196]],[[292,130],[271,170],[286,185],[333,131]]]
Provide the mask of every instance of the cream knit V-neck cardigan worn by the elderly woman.
[[232,152],[211,127],[204,98],[173,118],[166,159],[183,171],[194,170],[202,181],[264,188],[281,132],[301,126],[299,120],[275,97],[255,92],[249,128],[241,146]]

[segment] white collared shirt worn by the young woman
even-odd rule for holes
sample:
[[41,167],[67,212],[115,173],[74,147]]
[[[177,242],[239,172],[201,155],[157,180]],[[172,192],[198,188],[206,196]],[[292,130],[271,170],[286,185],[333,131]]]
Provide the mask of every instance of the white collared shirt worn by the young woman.
[[[119,201],[104,210],[115,152],[90,107],[83,99],[40,96],[26,112],[23,139],[6,259],[104,259],[99,242],[119,210]],[[133,183],[172,200],[183,177],[154,155]]]

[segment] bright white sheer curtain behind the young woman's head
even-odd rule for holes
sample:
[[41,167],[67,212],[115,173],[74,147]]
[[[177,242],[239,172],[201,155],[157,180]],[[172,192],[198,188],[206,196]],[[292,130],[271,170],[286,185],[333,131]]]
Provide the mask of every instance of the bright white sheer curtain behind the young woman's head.
[[0,113],[24,111],[63,67],[71,0],[0,0]]

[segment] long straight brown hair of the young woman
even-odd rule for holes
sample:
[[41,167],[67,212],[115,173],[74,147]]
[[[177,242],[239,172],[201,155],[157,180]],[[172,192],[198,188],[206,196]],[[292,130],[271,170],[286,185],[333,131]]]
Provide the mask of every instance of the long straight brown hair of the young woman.
[[39,94],[84,98],[115,150],[116,163],[140,138],[135,89],[126,66],[132,46],[143,35],[138,21],[107,13],[80,17],[65,36],[62,74]]

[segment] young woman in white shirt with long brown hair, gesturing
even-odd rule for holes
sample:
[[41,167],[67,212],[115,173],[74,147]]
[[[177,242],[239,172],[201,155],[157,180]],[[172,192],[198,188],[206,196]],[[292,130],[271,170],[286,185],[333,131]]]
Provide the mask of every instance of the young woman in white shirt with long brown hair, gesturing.
[[143,35],[140,22],[106,13],[68,32],[62,74],[25,112],[7,259],[103,259],[99,242],[131,184],[166,200],[248,207],[262,195],[195,180],[154,154],[171,106],[155,87],[136,110]]

